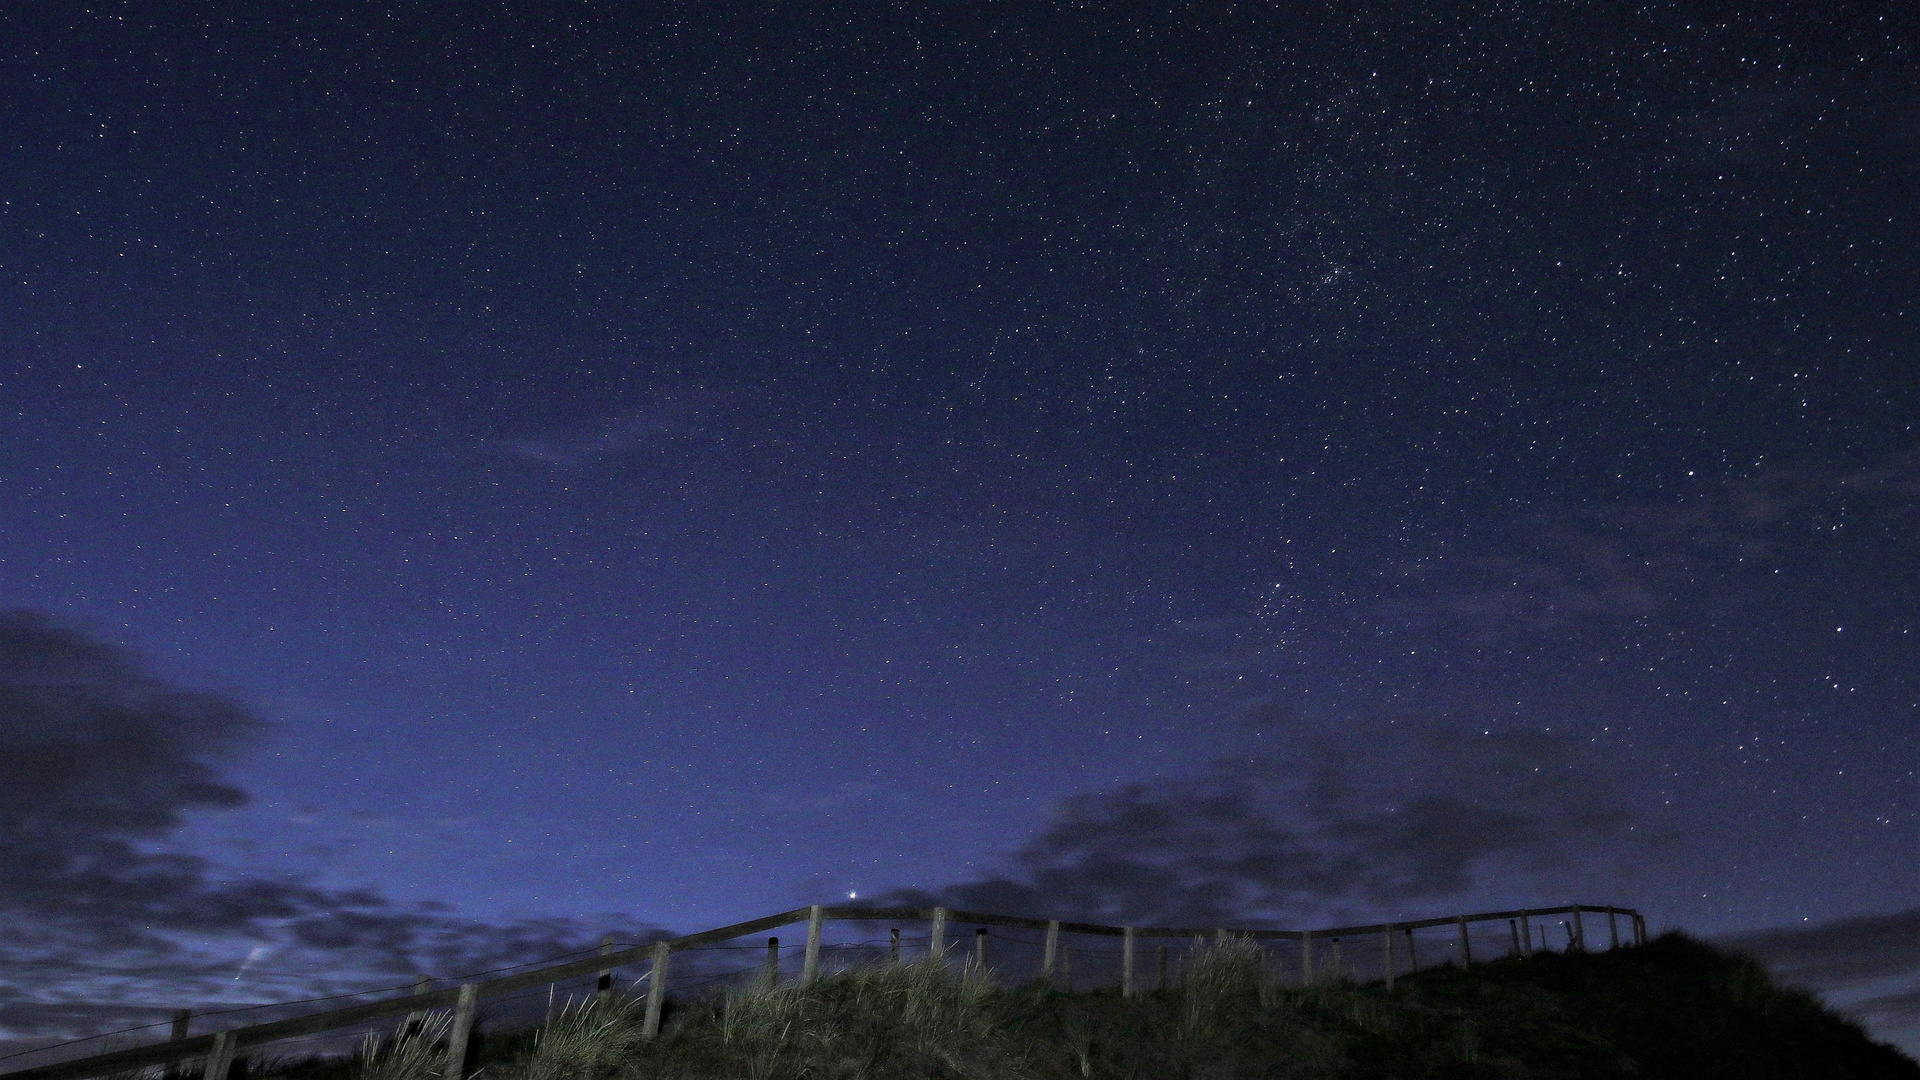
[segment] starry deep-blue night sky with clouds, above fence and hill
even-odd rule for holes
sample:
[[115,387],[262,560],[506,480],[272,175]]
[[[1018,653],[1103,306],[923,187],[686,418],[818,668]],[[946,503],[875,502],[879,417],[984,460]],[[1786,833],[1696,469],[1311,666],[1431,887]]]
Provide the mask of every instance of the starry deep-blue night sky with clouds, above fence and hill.
[[1910,6],[25,2],[0,102],[15,1036],[922,890],[1920,1045]]

